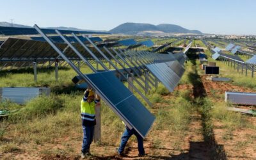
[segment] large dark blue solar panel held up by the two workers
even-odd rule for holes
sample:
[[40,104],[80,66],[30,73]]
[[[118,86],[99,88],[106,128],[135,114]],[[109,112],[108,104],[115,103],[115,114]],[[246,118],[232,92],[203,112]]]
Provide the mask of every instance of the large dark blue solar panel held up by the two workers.
[[[86,75],[97,86],[121,116],[145,137],[155,117],[141,102],[120,82],[111,71]],[[107,101],[108,101],[107,100]]]

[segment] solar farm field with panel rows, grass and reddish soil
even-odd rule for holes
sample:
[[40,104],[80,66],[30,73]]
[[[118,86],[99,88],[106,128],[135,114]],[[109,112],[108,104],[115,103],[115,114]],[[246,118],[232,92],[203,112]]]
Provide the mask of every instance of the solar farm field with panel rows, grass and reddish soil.
[[[81,159],[80,105],[87,86],[102,97],[100,140],[92,143],[88,159],[256,157],[255,106],[225,102],[227,91],[256,93],[255,71],[246,63],[253,56],[225,50],[233,42],[127,35],[88,38],[58,31],[52,37],[36,29],[42,31],[39,41],[4,39],[0,88],[45,87],[51,94],[17,104],[2,100],[1,90],[0,159]],[[241,46],[244,51],[246,45]],[[215,52],[215,47],[221,51]],[[216,53],[218,58],[212,56]],[[211,81],[199,54],[206,55],[207,64],[216,63],[218,77],[230,81]],[[138,157],[136,136],[128,141],[124,156],[116,157],[125,128],[122,121],[144,138],[144,157]]]

